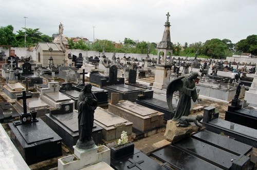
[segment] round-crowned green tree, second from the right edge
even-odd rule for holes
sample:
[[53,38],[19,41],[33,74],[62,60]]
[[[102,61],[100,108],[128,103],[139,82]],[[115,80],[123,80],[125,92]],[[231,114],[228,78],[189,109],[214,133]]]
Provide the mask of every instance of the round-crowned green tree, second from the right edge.
[[224,58],[227,45],[220,39],[207,40],[203,46],[203,54],[212,58]]

